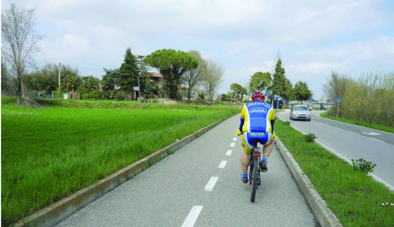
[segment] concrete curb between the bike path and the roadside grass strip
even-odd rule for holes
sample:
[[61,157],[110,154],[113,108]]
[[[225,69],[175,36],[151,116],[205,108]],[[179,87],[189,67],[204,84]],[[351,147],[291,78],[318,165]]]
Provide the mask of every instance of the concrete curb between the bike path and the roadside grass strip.
[[282,155],[283,160],[291,171],[293,177],[301,189],[302,194],[309,203],[313,213],[317,217],[322,227],[342,227],[342,224],[335,217],[334,213],[327,207],[326,201],[319,195],[309,178],[301,170],[293,155],[283,145],[283,143],[276,137],[274,142],[278,148],[279,153]]

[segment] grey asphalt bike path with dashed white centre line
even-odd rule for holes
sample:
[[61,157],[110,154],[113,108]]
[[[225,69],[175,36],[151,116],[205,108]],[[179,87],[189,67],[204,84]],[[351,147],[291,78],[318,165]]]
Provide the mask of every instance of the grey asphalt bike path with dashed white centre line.
[[250,202],[238,124],[227,119],[57,226],[319,226],[277,150]]

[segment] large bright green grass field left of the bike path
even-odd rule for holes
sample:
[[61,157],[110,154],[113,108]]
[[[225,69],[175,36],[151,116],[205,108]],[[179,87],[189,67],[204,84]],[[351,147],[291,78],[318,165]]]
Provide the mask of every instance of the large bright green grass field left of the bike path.
[[222,106],[144,104],[144,109],[135,109],[135,102],[45,102],[51,107],[32,109],[2,99],[2,225],[240,111]]

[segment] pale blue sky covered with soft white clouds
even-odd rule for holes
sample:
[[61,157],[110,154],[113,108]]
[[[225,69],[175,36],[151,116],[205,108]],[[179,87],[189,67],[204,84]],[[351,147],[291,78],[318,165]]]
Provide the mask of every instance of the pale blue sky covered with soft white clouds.
[[10,3],[35,9],[45,35],[36,65],[61,62],[81,75],[120,67],[128,47],[199,51],[226,68],[218,93],[273,72],[277,56],[315,99],[331,71],[394,72],[393,0],[2,0],[1,10]]

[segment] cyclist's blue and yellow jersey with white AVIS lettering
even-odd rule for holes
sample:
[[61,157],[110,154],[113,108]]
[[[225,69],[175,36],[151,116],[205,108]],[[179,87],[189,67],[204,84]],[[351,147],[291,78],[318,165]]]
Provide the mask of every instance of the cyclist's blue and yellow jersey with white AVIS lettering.
[[241,111],[245,118],[243,132],[271,132],[271,120],[275,119],[272,105],[263,101],[245,103]]

